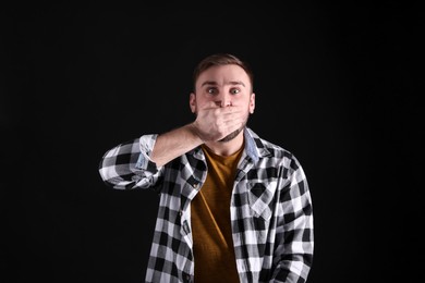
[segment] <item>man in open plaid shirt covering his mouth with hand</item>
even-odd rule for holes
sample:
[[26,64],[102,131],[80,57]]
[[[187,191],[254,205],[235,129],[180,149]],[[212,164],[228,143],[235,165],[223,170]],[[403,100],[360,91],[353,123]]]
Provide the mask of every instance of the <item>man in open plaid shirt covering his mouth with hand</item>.
[[252,70],[205,58],[190,95],[194,122],[108,150],[99,172],[117,189],[160,195],[146,282],[305,282],[313,209],[304,171],[259,138]]

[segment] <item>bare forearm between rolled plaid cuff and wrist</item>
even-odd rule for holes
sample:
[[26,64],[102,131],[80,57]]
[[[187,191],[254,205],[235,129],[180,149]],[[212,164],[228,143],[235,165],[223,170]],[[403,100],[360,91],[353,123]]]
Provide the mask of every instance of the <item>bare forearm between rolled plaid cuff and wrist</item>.
[[187,124],[160,134],[155,143],[150,159],[157,167],[161,167],[202,144],[203,140],[196,134],[193,124]]

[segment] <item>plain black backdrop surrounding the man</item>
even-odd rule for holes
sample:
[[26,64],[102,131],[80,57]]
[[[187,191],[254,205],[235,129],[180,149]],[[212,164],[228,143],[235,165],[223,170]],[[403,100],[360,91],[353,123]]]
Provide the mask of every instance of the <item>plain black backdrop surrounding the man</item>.
[[424,280],[423,12],[341,2],[2,9],[2,282],[143,282],[157,195],[98,163],[192,121],[192,70],[221,51],[254,69],[250,126],[307,174],[308,282]]

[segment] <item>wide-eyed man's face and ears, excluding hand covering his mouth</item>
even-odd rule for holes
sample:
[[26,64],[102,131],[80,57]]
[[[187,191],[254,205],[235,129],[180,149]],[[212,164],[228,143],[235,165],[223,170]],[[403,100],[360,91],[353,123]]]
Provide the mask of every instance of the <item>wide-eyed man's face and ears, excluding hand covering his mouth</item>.
[[[195,94],[191,94],[190,106],[193,113],[205,103],[214,101],[218,107],[241,106],[250,113],[254,112],[255,94],[252,93],[250,77],[239,65],[219,65],[204,71],[196,81]],[[243,127],[220,142],[229,142],[242,132]]]

